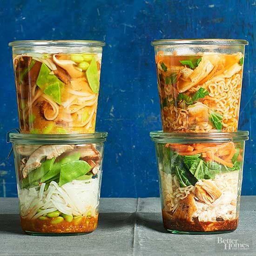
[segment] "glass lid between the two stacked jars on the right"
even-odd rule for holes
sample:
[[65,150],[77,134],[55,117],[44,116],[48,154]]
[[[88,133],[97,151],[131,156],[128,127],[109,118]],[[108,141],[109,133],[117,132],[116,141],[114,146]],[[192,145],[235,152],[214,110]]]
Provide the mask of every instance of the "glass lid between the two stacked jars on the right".
[[160,143],[207,143],[207,142],[239,142],[247,141],[248,131],[237,131],[233,133],[212,132],[212,133],[164,133],[163,131],[152,131],[152,141]]

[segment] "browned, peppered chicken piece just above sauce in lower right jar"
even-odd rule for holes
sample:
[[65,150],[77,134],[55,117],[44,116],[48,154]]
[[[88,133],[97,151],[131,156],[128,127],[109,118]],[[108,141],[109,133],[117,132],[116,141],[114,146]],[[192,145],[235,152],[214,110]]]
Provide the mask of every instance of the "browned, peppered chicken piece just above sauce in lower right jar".
[[189,195],[179,203],[174,212],[173,218],[191,221],[192,216],[196,211],[197,206],[195,203],[194,194],[190,192]]

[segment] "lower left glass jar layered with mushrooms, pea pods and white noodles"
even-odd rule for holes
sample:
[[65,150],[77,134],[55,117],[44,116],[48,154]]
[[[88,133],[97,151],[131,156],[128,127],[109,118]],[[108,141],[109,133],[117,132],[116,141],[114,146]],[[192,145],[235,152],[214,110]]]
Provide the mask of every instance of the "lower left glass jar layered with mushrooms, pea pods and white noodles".
[[92,232],[99,216],[107,133],[10,133],[22,229],[30,235]]

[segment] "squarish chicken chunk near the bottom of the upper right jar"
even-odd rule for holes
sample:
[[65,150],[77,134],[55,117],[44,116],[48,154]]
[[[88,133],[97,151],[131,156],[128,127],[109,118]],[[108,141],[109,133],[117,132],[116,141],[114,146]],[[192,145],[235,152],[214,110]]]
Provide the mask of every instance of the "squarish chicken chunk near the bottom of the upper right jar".
[[209,108],[201,102],[196,102],[188,107],[189,124],[198,124],[209,121]]

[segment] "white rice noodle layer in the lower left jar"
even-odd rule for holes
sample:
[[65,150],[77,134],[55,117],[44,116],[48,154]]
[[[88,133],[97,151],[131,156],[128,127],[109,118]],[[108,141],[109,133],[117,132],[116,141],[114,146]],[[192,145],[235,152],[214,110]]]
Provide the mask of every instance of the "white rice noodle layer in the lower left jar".
[[[36,219],[54,210],[73,215],[86,216],[88,211],[96,215],[99,205],[99,178],[89,181],[74,180],[63,186],[52,181],[49,188],[19,189],[20,214],[27,219]],[[40,212],[37,212],[41,209]]]

